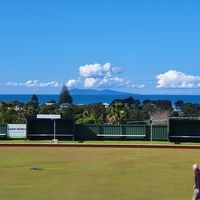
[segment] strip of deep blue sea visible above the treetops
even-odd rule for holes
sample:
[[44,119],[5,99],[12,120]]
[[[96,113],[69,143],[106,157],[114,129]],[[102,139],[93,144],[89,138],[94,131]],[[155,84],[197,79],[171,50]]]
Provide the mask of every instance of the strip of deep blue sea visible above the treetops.
[[[200,104],[200,95],[72,95],[74,104],[92,104],[92,103],[108,103],[110,104],[114,99],[125,99],[132,96],[134,99],[139,100],[141,103],[148,100],[170,100],[174,104],[177,100],[182,100],[185,103]],[[27,103],[31,100],[32,95],[22,94],[0,94],[0,101],[11,102],[18,100]],[[58,101],[59,95],[57,94],[38,94],[39,103],[43,104],[50,100]]]

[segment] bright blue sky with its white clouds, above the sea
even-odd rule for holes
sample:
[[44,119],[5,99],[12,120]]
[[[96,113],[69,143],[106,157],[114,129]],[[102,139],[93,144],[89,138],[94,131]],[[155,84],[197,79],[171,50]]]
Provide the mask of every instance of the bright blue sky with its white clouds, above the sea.
[[0,1],[0,93],[200,94],[198,0]]

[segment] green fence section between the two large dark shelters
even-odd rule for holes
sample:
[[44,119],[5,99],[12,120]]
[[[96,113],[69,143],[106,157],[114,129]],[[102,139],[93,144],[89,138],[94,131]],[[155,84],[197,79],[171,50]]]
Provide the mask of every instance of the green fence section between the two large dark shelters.
[[76,140],[161,140],[169,137],[167,125],[76,125]]

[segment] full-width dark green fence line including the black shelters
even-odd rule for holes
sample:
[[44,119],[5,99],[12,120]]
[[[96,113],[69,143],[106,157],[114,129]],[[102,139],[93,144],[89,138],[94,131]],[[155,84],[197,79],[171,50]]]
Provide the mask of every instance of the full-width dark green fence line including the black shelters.
[[[0,137],[21,137],[22,128],[19,124],[0,125]],[[24,124],[25,126],[25,124]],[[54,130],[58,139],[75,140],[102,140],[102,139],[127,139],[127,140],[158,140],[184,142],[200,142],[200,118],[171,118],[167,124],[123,124],[123,125],[79,125],[74,121],[60,120],[54,128],[52,121],[27,122],[28,139],[52,139]],[[10,132],[12,131],[12,132]],[[23,132],[24,136],[25,133]],[[70,137],[68,137],[70,136]]]

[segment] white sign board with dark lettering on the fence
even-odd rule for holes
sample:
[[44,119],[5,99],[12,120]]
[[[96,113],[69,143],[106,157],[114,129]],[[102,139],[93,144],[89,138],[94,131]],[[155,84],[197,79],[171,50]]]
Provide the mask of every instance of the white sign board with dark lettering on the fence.
[[8,124],[7,135],[10,138],[25,138],[26,124]]

